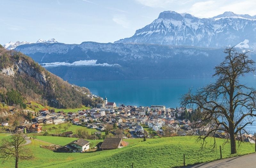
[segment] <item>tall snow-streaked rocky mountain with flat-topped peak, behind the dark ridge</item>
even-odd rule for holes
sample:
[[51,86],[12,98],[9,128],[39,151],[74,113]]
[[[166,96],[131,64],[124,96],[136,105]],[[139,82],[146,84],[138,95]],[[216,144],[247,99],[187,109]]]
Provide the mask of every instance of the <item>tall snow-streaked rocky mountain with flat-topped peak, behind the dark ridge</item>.
[[200,47],[235,46],[245,39],[256,48],[256,16],[224,12],[213,18],[188,13],[161,12],[156,20],[136,30],[132,37],[115,43],[190,45]]

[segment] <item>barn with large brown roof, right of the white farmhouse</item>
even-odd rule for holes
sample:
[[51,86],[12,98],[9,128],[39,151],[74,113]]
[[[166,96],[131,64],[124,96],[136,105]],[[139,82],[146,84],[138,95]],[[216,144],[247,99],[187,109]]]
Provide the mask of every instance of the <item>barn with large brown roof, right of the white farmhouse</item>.
[[123,141],[122,138],[105,138],[105,140],[102,142],[100,146],[100,149],[116,149],[125,147],[127,145],[128,143]]

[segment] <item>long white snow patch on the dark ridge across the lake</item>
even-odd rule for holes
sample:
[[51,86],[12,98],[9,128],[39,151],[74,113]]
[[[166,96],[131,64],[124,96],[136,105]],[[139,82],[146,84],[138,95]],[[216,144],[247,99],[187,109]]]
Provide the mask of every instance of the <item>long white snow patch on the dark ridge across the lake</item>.
[[68,62],[51,62],[51,63],[43,63],[41,64],[43,67],[59,67],[59,66],[102,66],[102,67],[113,67],[120,66],[119,64],[108,64],[102,63],[97,64],[97,60],[79,60],[73,63]]

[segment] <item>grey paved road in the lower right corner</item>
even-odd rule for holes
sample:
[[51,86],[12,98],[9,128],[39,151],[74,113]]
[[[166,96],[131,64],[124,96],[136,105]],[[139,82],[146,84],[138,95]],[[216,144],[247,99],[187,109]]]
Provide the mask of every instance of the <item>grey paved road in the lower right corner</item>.
[[256,153],[244,156],[231,157],[213,162],[202,163],[183,168],[255,168]]

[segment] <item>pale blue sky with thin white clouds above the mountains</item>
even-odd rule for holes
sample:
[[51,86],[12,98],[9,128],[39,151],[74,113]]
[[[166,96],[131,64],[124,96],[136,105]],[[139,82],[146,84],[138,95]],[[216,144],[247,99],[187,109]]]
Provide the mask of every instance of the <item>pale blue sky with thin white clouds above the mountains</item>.
[[55,38],[66,44],[132,36],[160,12],[209,18],[225,11],[256,15],[256,0],[0,0],[0,44]]

